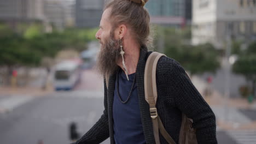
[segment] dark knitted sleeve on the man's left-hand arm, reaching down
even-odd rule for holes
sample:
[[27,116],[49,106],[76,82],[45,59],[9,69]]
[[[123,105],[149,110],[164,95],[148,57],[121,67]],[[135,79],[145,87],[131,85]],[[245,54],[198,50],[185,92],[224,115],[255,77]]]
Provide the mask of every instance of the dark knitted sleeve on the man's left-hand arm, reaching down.
[[109,137],[109,127],[108,127],[108,110],[107,110],[107,87],[106,81],[104,80],[104,111],[101,118],[96,122],[96,124],[79,139],[75,144],[98,144],[103,142]]

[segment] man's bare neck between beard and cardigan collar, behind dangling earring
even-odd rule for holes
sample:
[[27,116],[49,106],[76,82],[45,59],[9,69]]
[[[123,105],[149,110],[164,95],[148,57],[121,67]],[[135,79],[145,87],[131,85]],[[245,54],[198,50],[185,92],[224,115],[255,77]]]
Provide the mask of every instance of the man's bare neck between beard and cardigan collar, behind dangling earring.
[[[127,46],[124,45],[124,51],[125,51],[125,55],[124,55],[125,65],[127,68],[127,73],[130,75],[136,72],[140,47],[139,45],[136,45],[136,44],[128,44]],[[124,70],[122,61],[123,59],[120,58],[120,61],[118,62],[118,66]]]

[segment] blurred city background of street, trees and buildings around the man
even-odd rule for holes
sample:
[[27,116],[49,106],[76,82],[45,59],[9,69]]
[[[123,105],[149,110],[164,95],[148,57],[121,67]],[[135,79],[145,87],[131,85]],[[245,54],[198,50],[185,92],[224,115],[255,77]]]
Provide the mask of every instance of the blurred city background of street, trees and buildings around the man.
[[[100,118],[95,33],[107,2],[0,0],[0,143],[69,143]],[[218,142],[255,144],[256,0],[145,7],[152,50],[189,72],[216,114]]]

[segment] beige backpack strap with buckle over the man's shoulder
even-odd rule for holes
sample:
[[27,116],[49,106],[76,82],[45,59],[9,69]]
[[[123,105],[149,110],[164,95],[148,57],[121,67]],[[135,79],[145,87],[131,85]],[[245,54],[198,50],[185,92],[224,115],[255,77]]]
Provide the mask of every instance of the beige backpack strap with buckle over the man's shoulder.
[[153,52],[148,57],[144,72],[145,99],[148,102],[150,108],[150,116],[152,118],[156,144],[160,144],[159,130],[168,143],[175,144],[172,137],[165,130],[160,117],[158,117],[158,112],[155,106],[156,100],[158,98],[158,92],[156,87],[156,66],[158,64],[159,58],[162,56],[165,55],[158,52]]

